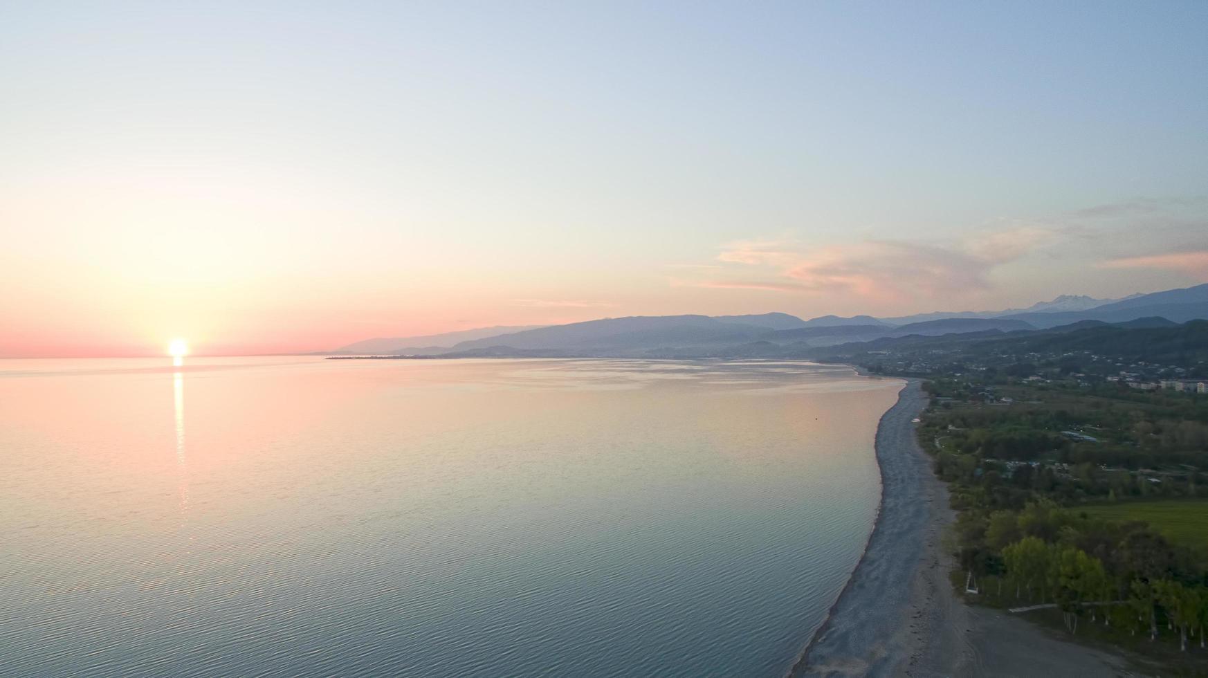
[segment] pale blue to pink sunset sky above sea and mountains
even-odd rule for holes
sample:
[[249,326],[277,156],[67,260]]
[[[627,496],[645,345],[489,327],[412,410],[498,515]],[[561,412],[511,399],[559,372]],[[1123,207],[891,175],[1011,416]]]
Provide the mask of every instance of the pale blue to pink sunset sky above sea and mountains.
[[0,357],[1204,283],[1206,35],[1198,0],[0,0]]

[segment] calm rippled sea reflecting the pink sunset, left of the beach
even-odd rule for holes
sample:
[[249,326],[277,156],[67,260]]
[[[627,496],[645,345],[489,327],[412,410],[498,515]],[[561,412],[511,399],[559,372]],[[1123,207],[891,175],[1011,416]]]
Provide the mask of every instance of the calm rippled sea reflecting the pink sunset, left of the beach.
[[0,674],[782,676],[895,382],[0,360]]

